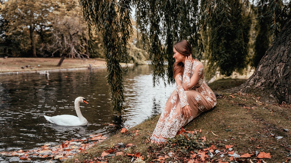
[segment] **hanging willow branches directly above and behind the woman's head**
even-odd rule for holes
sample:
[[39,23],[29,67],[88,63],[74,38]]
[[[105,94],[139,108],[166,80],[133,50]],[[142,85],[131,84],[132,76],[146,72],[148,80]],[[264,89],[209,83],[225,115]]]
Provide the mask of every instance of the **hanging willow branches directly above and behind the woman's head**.
[[134,5],[141,42],[148,45],[145,47],[152,64],[154,85],[159,83],[159,78],[165,81],[166,75],[168,83],[172,82],[174,42],[187,39],[194,48],[195,57],[202,57],[202,39],[198,32],[198,1],[139,0],[134,1]]

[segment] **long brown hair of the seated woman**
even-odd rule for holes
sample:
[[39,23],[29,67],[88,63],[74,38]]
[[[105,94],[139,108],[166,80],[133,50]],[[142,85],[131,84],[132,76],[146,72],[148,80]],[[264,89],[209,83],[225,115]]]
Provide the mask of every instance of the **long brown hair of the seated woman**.
[[[179,52],[180,54],[182,54],[184,56],[192,55],[192,47],[189,44],[189,42],[186,40],[181,40],[181,41],[176,42],[174,44],[174,48],[177,50],[177,52]],[[181,75],[183,75],[184,64],[182,62],[179,62],[179,63],[175,62],[174,66],[173,66],[173,77],[175,78],[176,75],[178,75],[179,73],[181,73]]]

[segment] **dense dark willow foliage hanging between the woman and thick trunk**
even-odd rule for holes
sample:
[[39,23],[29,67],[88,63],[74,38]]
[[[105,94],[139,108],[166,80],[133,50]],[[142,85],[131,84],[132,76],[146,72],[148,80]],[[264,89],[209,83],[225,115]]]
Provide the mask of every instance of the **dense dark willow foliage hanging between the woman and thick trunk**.
[[[207,1],[206,1],[207,2]],[[249,30],[251,19],[248,12],[249,2],[225,0],[206,3],[205,10],[212,6],[211,17],[203,27],[205,56],[208,59],[209,79],[217,70],[221,75],[230,76],[233,72],[242,73],[247,66]]]

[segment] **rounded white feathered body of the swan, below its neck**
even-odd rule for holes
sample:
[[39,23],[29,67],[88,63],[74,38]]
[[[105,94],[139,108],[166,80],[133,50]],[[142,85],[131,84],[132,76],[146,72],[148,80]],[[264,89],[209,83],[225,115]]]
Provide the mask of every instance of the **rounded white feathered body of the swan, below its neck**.
[[74,115],[56,115],[49,118],[49,121],[61,126],[80,126],[80,119]]

